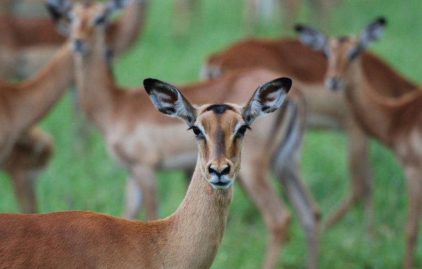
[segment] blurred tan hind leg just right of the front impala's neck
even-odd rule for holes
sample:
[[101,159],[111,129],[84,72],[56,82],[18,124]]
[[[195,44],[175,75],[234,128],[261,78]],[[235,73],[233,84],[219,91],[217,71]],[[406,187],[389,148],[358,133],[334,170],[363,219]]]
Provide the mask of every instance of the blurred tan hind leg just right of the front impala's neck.
[[[244,158],[242,161],[246,163]],[[267,166],[260,165],[260,161],[247,163],[243,165],[238,179],[252,202],[260,210],[270,233],[263,268],[276,268],[278,253],[287,235],[291,216],[271,186]]]

